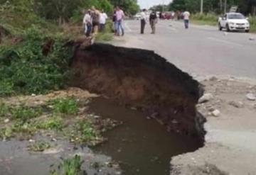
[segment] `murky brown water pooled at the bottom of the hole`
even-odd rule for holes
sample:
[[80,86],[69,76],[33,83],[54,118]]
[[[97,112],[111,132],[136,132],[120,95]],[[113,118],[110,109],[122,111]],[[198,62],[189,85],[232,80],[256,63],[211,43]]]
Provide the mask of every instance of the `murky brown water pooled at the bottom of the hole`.
[[202,146],[196,139],[167,132],[142,112],[104,98],[92,100],[90,112],[124,122],[124,125],[107,132],[105,137],[109,139],[108,142],[98,146],[95,151],[121,162],[123,174],[126,175],[169,174],[171,157]]

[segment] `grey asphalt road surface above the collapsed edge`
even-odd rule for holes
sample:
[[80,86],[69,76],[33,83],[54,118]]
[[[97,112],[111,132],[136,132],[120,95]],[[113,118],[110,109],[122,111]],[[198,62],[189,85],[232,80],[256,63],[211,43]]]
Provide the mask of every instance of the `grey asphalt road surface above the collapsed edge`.
[[125,21],[124,38],[115,45],[154,50],[178,68],[194,77],[228,75],[256,78],[256,35],[220,32],[217,27],[159,21],[156,35],[149,24],[144,35],[139,34],[139,21]]

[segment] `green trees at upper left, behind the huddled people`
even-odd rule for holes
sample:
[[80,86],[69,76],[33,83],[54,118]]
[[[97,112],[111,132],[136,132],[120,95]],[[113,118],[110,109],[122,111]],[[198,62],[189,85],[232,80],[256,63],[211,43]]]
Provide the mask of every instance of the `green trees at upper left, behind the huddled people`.
[[120,6],[127,14],[139,11],[137,0],[0,0],[0,5],[11,4],[18,9],[33,11],[38,16],[59,23],[68,21],[80,11],[95,6],[97,9],[112,13],[114,6]]

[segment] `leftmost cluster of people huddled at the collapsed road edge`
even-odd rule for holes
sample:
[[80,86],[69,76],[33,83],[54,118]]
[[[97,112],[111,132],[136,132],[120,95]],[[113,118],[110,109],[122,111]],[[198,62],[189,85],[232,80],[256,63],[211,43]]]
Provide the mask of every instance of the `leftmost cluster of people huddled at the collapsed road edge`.
[[94,6],[92,6],[92,9],[88,9],[82,20],[85,35],[89,37],[92,34],[97,34],[98,31],[105,30],[107,18],[107,13],[95,9]]

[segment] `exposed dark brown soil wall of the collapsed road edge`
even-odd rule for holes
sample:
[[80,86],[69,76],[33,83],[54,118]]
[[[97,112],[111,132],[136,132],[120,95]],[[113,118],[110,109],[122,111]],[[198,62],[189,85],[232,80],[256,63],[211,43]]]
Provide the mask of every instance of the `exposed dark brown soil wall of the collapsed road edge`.
[[154,52],[105,44],[77,47],[72,67],[70,86],[142,109],[170,131],[198,135],[198,82]]

